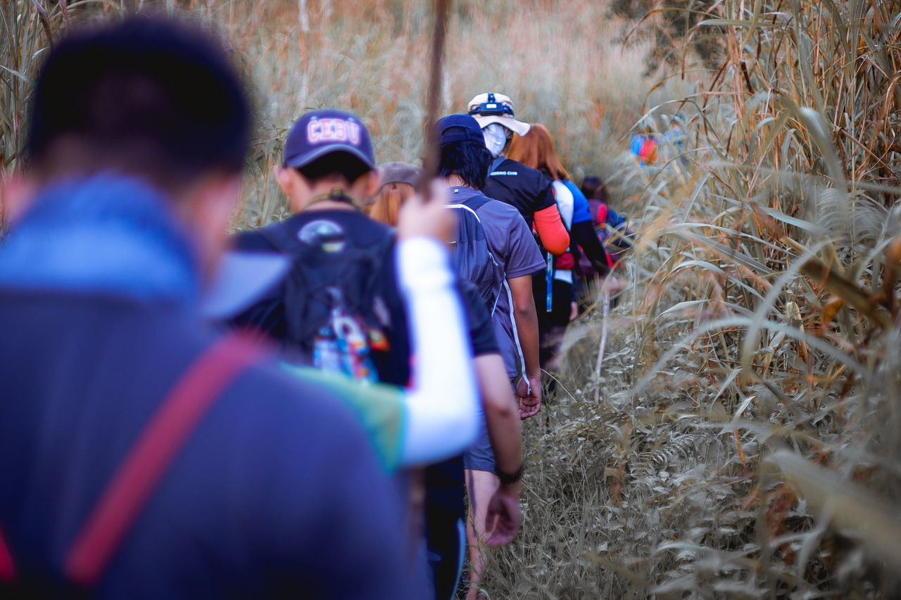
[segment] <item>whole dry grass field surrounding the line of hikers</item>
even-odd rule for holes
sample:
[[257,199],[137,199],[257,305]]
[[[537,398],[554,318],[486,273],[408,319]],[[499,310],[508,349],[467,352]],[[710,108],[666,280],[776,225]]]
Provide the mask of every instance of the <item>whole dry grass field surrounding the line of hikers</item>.
[[[0,7],[6,172],[48,43],[34,7]],[[428,3],[178,8],[215,23],[252,78],[236,227],[284,215],[268,170],[305,109],[360,114],[381,161],[420,156]],[[899,15],[896,0],[454,3],[445,112],[511,95],[577,182],[610,182],[641,238],[526,424],[523,528],[493,555],[489,597],[901,595]],[[634,165],[645,112],[685,115],[683,157]]]

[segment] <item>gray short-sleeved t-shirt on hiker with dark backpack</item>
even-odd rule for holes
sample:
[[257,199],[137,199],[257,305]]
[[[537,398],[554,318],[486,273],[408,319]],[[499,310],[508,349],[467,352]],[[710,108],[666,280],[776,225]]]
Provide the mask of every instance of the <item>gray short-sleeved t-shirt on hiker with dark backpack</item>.
[[[451,203],[454,204],[462,204],[477,195],[482,193],[472,187],[451,187]],[[538,243],[523,215],[514,206],[491,200],[481,205],[476,214],[485,229],[488,247],[504,267],[507,279],[532,275],[545,267]],[[513,296],[506,285],[497,301],[493,321],[507,377],[516,377],[523,372],[524,366],[514,326]]]

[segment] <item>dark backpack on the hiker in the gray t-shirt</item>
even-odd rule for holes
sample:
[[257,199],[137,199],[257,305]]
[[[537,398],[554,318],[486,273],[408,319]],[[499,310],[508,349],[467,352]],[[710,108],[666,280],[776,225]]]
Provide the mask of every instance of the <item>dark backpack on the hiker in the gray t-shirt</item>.
[[457,205],[448,205],[458,212],[457,232],[454,236],[453,261],[460,277],[478,287],[488,314],[494,316],[497,300],[504,288],[506,275],[485,237],[485,228],[476,211],[491,198],[477,195]]

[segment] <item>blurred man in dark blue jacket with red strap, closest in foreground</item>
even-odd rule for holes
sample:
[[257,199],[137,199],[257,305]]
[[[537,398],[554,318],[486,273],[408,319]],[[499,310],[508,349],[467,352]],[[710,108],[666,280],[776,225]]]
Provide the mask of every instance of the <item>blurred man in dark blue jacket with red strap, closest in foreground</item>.
[[[414,597],[393,491],[337,393],[201,323],[243,90],[187,23],[49,52],[5,189],[0,595]],[[420,213],[402,234],[440,265],[420,236],[441,215]]]

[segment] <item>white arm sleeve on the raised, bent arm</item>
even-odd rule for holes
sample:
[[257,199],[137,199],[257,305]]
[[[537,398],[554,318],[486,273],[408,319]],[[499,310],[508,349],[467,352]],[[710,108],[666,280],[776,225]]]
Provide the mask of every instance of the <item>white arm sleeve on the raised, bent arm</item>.
[[414,356],[401,462],[426,464],[460,454],[476,437],[478,392],[469,326],[448,252],[438,241],[399,241],[395,259]]

